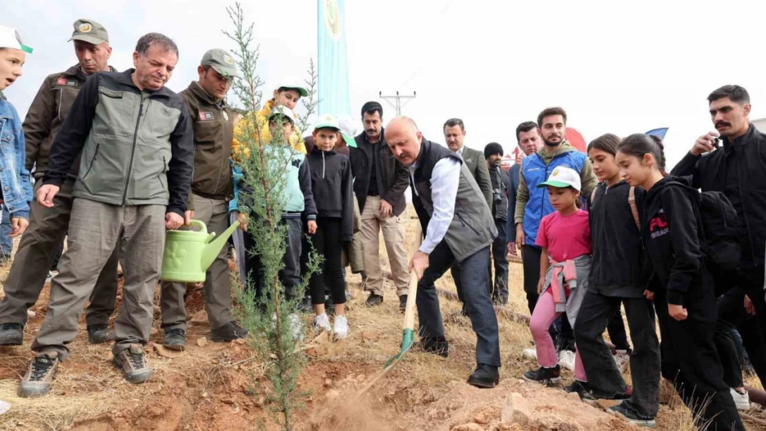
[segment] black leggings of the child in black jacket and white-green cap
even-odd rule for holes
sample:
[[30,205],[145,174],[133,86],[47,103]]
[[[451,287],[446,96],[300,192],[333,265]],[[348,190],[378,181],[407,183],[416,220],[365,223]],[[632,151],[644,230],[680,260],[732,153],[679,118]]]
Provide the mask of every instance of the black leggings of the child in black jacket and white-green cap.
[[311,276],[311,302],[325,303],[326,286],[332,292],[333,304],[345,304],[343,268],[340,263],[343,249],[341,219],[319,217],[316,219],[316,233],[311,238],[316,252],[324,256],[322,272]]

